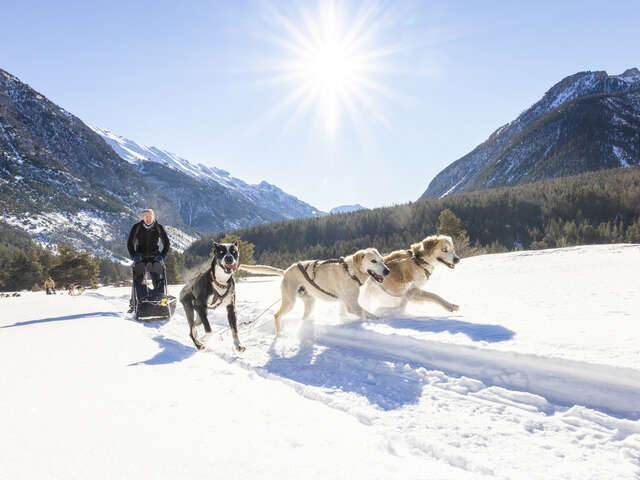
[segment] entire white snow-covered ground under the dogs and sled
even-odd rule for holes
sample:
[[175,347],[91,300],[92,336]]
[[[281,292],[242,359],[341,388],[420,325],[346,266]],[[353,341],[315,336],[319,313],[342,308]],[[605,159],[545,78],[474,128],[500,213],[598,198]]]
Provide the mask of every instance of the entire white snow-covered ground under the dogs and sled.
[[[241,326],[242,355],[223,312],[196,352],[181,309],[138,324],[126,288],[0,298],[0,362],[19,366],[0,376],[0,472],[637,479],[639,264],[639,245],[464,259],[429,283],[456,314],[319,304],[303,324],[298,306],[280,338],[270,313]],[[238,283],[240,322],[279,298],[265,280]]]

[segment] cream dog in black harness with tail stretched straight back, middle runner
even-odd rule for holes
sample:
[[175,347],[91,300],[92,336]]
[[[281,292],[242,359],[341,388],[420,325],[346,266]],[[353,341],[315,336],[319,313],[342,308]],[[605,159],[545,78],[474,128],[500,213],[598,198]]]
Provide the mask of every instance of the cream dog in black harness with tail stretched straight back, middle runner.
[[267,265],[240,265],[240,270],[282,275],[282,305],[274,315],[276,332],[280,331],[280,318],[293,309],[298,298],[304,303],[303,319],[311,315],[316,299],[341,302],[353,315],[376,318],[358,303],[360,287],[369,279],[382,283],[389,274],[382,255],[375,248],[358,250],[340,259],[305,260],[286,270]]

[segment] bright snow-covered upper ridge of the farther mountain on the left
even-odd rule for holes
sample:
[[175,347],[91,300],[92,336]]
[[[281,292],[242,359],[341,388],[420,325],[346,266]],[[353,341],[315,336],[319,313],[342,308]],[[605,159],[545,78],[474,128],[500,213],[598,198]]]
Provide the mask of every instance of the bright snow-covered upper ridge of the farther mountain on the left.
[[273,211],[283,220],[313,217],[322,214],[311,205],[285,193],[275,185],[261,182],[249,185],[239,178],[232,177],[225,170],[194,164],[178,155],[156,147],[148,147],[124,138],[115,133],[98,127],[91,127],[100,135],[115,152],[132,164],[141,162],[155,162],[177,170],[205,184],[221,186],[237,192],[250,202],[255,202],[260,208]]

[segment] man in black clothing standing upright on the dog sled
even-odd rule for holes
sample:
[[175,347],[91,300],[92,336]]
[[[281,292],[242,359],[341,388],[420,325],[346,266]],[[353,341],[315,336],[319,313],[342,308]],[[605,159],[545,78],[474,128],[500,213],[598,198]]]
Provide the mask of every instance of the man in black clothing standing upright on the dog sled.
[[[162,241],[162,250],[159,242]],[[170,243],[164,227],[156,220],[150,208],[142,211],[142,221],[136,223],[129,233],[127,249],[133,260],[133,288],[129,301],[129,313],[133,312],[133,295],[136,285],[144,280],[146,272],[151,275],[155,293],[164,292],[164,259],[169,253]]]

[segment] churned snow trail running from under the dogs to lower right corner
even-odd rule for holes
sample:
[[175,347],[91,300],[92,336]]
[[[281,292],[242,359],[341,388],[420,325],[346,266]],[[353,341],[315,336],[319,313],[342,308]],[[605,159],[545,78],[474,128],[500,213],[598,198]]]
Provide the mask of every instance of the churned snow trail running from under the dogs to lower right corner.
[[[259,300],[238,302],[240,321],[263,312],[277,292],[277,282],[257,286],[250,298],[257,291]],[[145,328],[161,351],[140,363],[215,354],[355,417],[389,453],[480,475],[638,478],[640,374],[633,369],[418,340],[380,333],[379,323],[303,323],[297,311],[276,338],[276,309],[240,328],[247,351],[239,355],[223,312],[212,312],[207,349],[196,353],[179,307],[170,322]],[[332,306],[315,315],[337,316]]]

